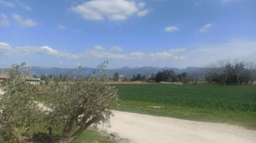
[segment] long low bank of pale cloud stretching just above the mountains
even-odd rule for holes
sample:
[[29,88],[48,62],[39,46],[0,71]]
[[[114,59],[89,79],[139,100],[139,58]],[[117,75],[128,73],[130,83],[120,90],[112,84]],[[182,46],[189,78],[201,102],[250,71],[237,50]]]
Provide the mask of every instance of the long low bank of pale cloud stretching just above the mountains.
[[59,58],[68,59],[65,60],[65,65],[67,66],[69,62],[73,65],[74,63],[84,63],[88,60],[94,60],[96,61],[95,63],[109,60],[111,63],[119,63],[120,66],[124,66],[124,64],[125,66],[147,64],[151,66],[174,66],[179,68],[204,66],[215,63],[220,59],[230,59],[230,61],[233,59],[256,61],[256,41],[233,40],[212,45],[196,45],[189,49],[166,49],[154,52],[136,50],[131,52],[117,52],[117,50],[119,50],[117,46],[104,49],[102,46],[96,45],[92,49],[86,49],[83,52],[74,54],[69,51],[53,49],[49,46],[11,47],[9,43],[0,42],[0,57],[6,56],[4,57],[6,59],[5,61],[16,57],[21,59],[21,56],[46,55],[50,61],[57,57],[55,59],[56,64],[60,61]]

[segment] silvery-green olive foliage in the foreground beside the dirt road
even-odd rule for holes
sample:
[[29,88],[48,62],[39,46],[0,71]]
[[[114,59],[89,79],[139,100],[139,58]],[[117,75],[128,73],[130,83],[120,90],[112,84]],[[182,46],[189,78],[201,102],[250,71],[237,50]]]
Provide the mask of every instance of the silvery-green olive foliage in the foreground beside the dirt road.
[[[43,107],[36,101],[37,89],[27,84],[24,74],[19,71],[23,65],[12,65],[10,79],[3,85],[0,134],[4,140],[39,141],[35,135],[42,135],[50,141],[57,135],[56,142],[72,143],[89,125],[109,123],[112,115],[109,109],[117,105],[117,89],[105,83],[105,63],[98,67],[103,75],[101,79],[95,72],[86,80],[51,80],[48,87],[41,89],[47,94],[41,103]],[[45,130],[39,133],[37,126]]]

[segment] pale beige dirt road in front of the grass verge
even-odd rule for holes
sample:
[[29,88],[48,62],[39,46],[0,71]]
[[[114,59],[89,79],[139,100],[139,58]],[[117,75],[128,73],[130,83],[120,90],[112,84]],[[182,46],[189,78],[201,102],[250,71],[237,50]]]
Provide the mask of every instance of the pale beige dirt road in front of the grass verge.
[[256,131],[228,124],[114,111],[107,132],[135,143],[256,143]]

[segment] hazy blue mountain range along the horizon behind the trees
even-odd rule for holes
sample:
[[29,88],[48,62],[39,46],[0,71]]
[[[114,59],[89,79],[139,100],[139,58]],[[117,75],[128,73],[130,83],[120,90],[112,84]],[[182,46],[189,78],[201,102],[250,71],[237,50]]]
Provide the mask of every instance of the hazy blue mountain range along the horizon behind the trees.
[[[36,76],[41,76],[41,75],[53,75],[53,76],[59,76],[60,74],[62,75],[70,75],[72,76],[74,71],[76,69],[71,69],[71,68],[57,68],[57,67],[52,67],[52,68],[47,68],[47,67],[39,67],[39,66],[31,66],[31,67],[26,67],[30,69],[30,74],[31,75],[36,75]],[[107,69],[107,73],[109,76],[113,76],[115,72],[118,72],[120,75],[124,75],[125,77],[131,78],[134,74],[140,73],[141,75],[145,75],[146,77],[150,77],[152,73],[156,74],[158,71],[162,70],[173,70],[176,73],[182,73],[182,72],[187,72],[187,73],[192,73],[192,72],[200,72],[199,67],[187,67],[185,69],[177,69],[173,67],[163,67],[163,68],[158,68],[158,67],[152,67],[152,66],[142,66],[142,67],[123,67],[123,68],[118,68],[118,69]],[[84,67],[82,68],[77,76],[79,77],[89,77],[92,75],[93,71],[95,71],[94,68],[87,68]]]

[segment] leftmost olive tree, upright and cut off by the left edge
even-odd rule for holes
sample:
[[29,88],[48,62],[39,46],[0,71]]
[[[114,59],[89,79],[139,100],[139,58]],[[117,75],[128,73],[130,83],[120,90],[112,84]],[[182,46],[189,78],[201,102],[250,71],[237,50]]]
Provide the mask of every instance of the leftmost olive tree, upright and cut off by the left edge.
[[36,88],[26,83],[26,76],[19,71],[25,64],[12,65],[9,77],[1,87],[4,90],[0,101],[0,134],[4,140],[26,142],[29,129],[41,123],[42,111],[35,101]]

